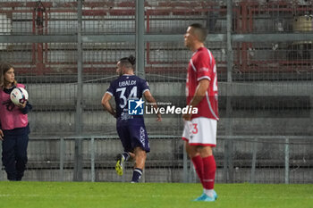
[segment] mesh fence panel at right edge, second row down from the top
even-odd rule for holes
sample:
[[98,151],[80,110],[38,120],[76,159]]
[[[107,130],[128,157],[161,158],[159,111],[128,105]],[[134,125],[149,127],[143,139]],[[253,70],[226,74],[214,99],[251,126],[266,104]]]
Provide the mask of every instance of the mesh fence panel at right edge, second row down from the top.
[[312,43],[255,42],[234,44],[233,80],[309,81],[312,79]]

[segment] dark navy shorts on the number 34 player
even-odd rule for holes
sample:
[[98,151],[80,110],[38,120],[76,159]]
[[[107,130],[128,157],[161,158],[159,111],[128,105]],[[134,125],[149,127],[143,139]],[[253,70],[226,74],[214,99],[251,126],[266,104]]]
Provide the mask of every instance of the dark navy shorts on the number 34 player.
[[137,146],[147,153],[150,152],[148,134],[143,121],[117,121],[116,129],[125,152],[133,152]]

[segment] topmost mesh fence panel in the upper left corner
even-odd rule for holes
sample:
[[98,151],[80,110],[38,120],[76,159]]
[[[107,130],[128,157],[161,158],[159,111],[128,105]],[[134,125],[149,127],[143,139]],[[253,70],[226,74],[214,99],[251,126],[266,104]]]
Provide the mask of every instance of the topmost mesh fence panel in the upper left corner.
[[[77,3],[73,1],[2,1],[5,35],[75,34]],[[6,17],[4,17],[6,16]]]

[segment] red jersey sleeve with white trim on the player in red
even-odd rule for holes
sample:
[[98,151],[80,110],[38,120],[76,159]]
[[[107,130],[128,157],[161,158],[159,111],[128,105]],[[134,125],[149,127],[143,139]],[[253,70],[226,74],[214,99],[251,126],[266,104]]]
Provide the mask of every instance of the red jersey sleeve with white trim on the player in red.
[[211,67],[211,57],[206,53],[200,53],[194,62],[197,69],[197,81],[201,79],[211,80],[213,69]]

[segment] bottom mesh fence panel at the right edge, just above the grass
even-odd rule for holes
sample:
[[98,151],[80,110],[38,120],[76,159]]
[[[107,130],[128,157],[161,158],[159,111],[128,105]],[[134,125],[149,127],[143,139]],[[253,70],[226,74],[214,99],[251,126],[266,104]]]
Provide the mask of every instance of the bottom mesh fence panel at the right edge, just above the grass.
[[[293,138],[288,142],[275,137],[236,139],[233,149],[234,182],[251,182],[253,179],[256,183],[309,183],[312,179],[312,156],[306,153],[309,146],[312,146],[309,137]],[[257,150],[255,153],[254,149]],[[253,154],[256,154],[254,172],[251,170]]]

